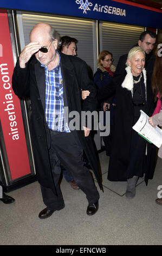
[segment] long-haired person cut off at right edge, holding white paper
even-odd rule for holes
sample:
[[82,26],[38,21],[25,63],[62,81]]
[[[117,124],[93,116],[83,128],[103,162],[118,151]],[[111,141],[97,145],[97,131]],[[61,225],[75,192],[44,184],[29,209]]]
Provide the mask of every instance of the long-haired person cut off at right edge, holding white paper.
[[[152,89],[154,94],[157,95],[155,100],[157,100],[158,98],[158,101],[153,116],[150,117],[148,121],[152,126],[162,126],[162,57],[158,56],[158,52],[155,58],[154,69],[152,74]],[[162,145],[159,148],[158,156],[162,159]],[[162,198],[157,198],[155,202],[159,205],[162,205]]]

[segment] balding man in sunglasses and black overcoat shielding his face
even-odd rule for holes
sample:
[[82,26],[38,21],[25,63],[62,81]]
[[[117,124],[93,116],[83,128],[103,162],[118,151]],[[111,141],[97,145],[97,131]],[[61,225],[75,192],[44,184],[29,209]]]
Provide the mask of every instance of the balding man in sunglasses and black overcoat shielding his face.
[[[72,173],[88,200],[87,215],[98,210],[99,192],[89,170],[82,161],[83,150],[100,184],[90,129],[70,130],[66,110],[93,112],[96,89],[89,79],[83,60],[57,51],[55,30],[38,23],[30,33],[30,43],[24,47],[12,76],[12,88],[17,96],[30,96],[32,137],[36,172],[41,184],[43,202],[47,206],[39,217],[47,218],[64,208],[59,186],[62,165]],[[81,104],[81,89],[90,95]],[[66,107],[66,108],[65,108]],[[69,118],[70,121],[70,118]],[[78,124],[76,124],[78,128]]]

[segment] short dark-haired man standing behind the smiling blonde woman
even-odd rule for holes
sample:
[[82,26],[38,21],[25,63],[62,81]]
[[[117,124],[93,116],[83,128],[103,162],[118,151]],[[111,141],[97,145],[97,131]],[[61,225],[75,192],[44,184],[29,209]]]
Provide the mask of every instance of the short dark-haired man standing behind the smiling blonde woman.
[[[153,71],[155,55],[153,54],[152,50],[153,50],[155,41],[156,41],[156,35],[152,31],[142,32],[138,40],[137,46],[140,46],[142,50],[144,50],[146,53],[145,69],[147,74],[152,74],[152,71]],[[116,66],[114,77],[124,74],[127,57],[128,57],[128,54],[124,54],[119,58],[119,62],[118,62],[118,65]]]

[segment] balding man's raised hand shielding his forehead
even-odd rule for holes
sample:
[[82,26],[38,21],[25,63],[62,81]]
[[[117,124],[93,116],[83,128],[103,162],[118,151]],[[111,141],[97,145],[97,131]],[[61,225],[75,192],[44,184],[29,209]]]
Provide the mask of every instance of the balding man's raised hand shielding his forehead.
[[25,68],[25,64],[29,61],[31,56],[36,53],[38,50],[40,50],[42,46],[38,42],[29,42],[28,45],[26,45],[23,48],[23,51],[20,54],[19,57],[19,63],[21,68]]

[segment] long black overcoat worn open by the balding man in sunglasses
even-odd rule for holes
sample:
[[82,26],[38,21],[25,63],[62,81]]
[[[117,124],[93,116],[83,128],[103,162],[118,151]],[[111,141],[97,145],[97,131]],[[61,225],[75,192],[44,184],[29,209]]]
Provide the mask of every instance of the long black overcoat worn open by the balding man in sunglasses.
[[[67,106],[69,112],[81,111],[93,112],[96,109],[96,88],[89,79],[87,64],[80,58],[68,56],[59,52],[61,56],[60,66],[63,79],[63,88],[66,90]],[[26,68],[21,69],[17,60],[12,76],[12,88],[19,97],[29,96],[31,101],[31,132],[33,138],[36,174],[38,181],[45,187],[54,188],[49,160],[50,133],[45,117],[45,72],[40,62],[33,57],[27,63]],[[89,90],[90,95],[86,100],[81,100],[81,89]],[[70,121],[70,119],[69,119]],[[100,174],[96,151],[90,136],[85,137],[83,130],[73,131],[83,145],[90,166],[100,183]]]

